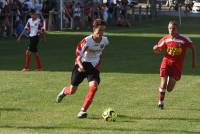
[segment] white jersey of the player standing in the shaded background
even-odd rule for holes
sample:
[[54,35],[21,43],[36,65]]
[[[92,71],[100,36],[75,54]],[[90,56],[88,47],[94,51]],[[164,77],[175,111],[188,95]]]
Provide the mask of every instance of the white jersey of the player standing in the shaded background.
[[33,37],[38,35],[40,30],[44,30],[44,27],[44,22],[41,19],[37,18],[33,20],[32,18],[29,18],[25,25],[25,30],[29,30],[29,36]]

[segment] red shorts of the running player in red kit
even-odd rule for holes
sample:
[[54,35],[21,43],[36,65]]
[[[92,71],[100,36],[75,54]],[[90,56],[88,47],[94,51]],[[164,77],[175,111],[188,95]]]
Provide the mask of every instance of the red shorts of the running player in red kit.
[[169,66],[166,68],[160,68],[160,77],[173,77],[176,81],[181,79],[181,71],[176,67]]

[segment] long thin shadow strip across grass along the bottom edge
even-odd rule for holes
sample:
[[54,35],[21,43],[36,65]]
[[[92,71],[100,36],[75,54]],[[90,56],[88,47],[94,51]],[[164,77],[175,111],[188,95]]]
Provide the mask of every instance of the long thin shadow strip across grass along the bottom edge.
[[134,129],[134,128],[105,128],[105,127],[75,127],[75,126],[10,126],[10,125],[5,125],[1,126],[0,128],[7,128],[7,129],[34,129],[34,130],[40,130],[40,129],[46,129],[46,130],[55,130],[55,129],[71,129],[71,130],[80,130],[83,132],[84,130],[90,131],[90,130],[97,130],[97,131],[113,131],[114,132],[160,132],[160,133],[191,133],[191,134],[199,134],[199,132],[194,132],[194,131],[189,131],[189,130],[174,130],[174,129]]

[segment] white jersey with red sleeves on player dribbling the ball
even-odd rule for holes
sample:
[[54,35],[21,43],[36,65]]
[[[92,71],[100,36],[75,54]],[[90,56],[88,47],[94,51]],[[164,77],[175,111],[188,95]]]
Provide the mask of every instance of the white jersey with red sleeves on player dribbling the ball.
[[[108,43],[108,38],[105,36],[102,36],[99,43],[93,40],[92,35],[87,36],[77,45],[76,57],[80,56],[81,62],[90,62],[98,68],[101,63],[103,49]],[[77,61],[75,64],[77,64]]]

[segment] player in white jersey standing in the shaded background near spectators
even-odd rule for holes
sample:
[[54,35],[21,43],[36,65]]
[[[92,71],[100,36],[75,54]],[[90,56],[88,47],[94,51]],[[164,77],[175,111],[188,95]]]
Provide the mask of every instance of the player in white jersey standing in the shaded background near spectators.
[[29,31],[30,44],[28,44],[28,48],[26,50],[25,64],[22,71],[29,71],[29,65],[32,53],[35,55],[36,71],[41,70],[40,56],[38,53],[38,43],[39,43],[39,36],[44,33],[44,30],[45,30],[44,20],[37,18],[36,11],[32,9],[31,18],[28,19],[24,31],[20,34],[20,36],[17,39],[19,41],[24,32]]

